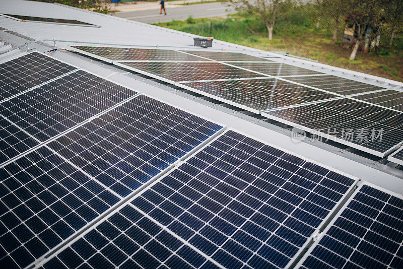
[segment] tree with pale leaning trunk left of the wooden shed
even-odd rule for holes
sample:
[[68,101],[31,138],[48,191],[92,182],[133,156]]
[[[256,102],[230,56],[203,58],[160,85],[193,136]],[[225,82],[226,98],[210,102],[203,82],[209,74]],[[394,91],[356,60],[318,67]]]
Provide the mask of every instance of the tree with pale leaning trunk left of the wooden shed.
[[354,47],[350,55],[350,60],[354,60],[360,43],[364,37],[367,27],[378,25],[382,18],[383,0],[350,0],[348,1],[348,20],[354,23],[357,37],[354,40]]

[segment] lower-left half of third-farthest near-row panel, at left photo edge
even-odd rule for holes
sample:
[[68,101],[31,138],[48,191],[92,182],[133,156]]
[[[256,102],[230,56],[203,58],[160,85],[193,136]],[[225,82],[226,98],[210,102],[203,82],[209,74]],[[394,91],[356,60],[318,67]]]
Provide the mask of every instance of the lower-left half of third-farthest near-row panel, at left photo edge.
[[0,168],[0,264],[24,268],[119,201],[46,146]]

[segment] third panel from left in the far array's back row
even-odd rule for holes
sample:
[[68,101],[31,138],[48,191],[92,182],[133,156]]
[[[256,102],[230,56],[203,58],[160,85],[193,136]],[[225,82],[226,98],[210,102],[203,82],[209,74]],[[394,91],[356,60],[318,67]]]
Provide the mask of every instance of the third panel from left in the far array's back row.
[[290,81],[302,83],[318,89],[334,92],[342,95],[364,93],[383,89],[371,84],[354,80],[348,80],[336,76],[326,75],[319,77],[295,77],[287,78]]

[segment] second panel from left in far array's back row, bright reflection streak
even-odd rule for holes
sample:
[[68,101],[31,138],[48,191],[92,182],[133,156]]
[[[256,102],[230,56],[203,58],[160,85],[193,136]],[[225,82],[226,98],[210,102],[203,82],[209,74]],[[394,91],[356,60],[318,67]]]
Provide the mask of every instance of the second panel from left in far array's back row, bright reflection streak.
[[232,62],[231,64],[270,76],[322,74],[317,71],[299,68],[281,62]]

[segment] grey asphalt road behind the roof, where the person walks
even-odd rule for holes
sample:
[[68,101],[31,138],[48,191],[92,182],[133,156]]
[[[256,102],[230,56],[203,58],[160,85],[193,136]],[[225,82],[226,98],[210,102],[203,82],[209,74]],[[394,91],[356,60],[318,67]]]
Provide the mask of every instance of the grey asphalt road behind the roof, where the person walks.
[[160,15],[160,5],[156,3],[155,9],[118,12],[115,13],[115,16],[138,22],[158,23],[169,22],[172,20],[186,20],[189,16],[192,16],[193,18],[207,18],[225,16],[234,13],[232,7],[227,7],[225,4],[219,2],[187,6],[175,5],[171,7],[165,5],[165,10],[167,15],[164,15],[164,12]]

